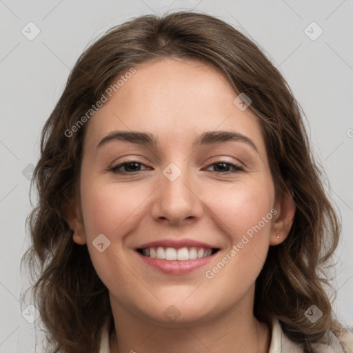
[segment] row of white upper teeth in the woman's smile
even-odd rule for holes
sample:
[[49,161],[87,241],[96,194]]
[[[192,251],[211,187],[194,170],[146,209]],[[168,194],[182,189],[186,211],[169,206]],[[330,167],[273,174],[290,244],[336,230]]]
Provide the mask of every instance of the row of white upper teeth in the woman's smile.
[[212,249],[206,248],[163,248],[159,246],[158,248],[146,248],[142,250],[144,256],[152,257],[153,259],[163,259],[163,260],[194,260],[202,259],[203,257],[208,257],[212,254]]

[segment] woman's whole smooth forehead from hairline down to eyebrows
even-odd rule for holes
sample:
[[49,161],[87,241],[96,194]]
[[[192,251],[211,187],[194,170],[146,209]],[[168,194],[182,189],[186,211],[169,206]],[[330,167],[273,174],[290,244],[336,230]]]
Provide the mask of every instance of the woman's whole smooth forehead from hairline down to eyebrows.
[[250,109],[234,105],[238,93],[213,65],[163,58],[135,69],[90,119],[85,137],[89,145],[97,145],[113,130],[148,131],[168,144],[191,142],[206,130],[232,130],[251,135],[261,149],[257,118]]

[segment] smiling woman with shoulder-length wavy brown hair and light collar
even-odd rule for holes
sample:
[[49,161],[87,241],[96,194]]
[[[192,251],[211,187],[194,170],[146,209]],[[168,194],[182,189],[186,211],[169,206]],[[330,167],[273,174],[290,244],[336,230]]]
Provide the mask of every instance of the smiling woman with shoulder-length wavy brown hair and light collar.
[[352,352],[299,104],[223,21],[148,15],[92,44],[34,181],[23,262],[48,352]]

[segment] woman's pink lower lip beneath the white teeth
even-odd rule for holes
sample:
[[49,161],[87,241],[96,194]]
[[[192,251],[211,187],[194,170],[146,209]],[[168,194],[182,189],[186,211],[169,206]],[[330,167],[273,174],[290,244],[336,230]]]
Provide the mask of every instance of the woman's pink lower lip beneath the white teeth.
[[152,268],[160,270],[161,272],[168,274],[185,274],[190,273],[210,263],[216,253],[207,257],[203,257],[201,259],[185,261],[156,259],[149,256],[143,256],[139,252],[137,252],[137,254],[141,257],[143,261],[145,261],[145,263],[152,266]]

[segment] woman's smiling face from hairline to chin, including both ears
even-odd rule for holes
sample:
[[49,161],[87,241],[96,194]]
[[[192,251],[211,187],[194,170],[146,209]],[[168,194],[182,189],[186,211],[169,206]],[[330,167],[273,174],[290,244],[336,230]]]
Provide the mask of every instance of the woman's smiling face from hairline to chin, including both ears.
[[294,214],[275,199],[259,121],[199,61],[165,58],[125,77],[87,126],[74,241],[87,243],[117,312],[167,325],[251,304]]

